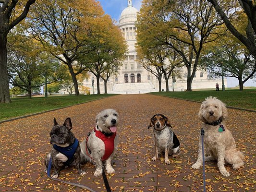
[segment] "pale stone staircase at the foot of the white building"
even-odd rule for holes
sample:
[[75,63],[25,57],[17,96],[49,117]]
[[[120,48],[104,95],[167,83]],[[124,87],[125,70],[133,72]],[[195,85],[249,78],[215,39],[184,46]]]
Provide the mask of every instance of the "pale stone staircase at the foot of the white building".
[[126,83],[126,84],[114,84],[113,91],[108,93],[115,94],[142,94],[149,92],[157,92],[158,89],[154,89],[153,85],[149,82],[146,83]]

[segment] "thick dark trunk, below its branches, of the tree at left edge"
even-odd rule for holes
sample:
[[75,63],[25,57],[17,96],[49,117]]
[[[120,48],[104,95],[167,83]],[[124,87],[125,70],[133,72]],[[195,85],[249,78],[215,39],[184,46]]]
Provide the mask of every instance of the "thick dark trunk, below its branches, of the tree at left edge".
[[7,34],[0,33],[0,103],[11,103],[7,70]]

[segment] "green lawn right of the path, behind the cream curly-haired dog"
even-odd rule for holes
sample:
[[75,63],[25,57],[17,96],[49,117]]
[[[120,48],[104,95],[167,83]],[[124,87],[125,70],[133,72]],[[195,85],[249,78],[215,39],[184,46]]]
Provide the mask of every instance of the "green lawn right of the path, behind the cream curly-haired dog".
[[192,92],[153,92],[157,96],[169,96],[202,102],[207,96],[216,96],[227,106],[256,110],[256,89],[244,89],[244,91],[192,91]]

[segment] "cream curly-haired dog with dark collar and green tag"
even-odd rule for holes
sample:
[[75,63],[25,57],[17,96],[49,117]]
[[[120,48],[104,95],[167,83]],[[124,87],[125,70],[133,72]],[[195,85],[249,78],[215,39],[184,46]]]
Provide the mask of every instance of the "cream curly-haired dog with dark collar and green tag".
[[[225,125],[228,112],[224,103],[217,97],[209,96],[201,104],[198,117],[203,122],[204,129],[204,149],[210,153],[205,157],[205,161],[217,160],[221,175],[226,177],[230,173],[224,167],[225,163],[232,165],[233,169],[244,165],[244,155],[237,151],[235,140],[231,132]],[[198,156],[192,168],[198,169],[202,166],[202,135],[200,135],[198,145]]]

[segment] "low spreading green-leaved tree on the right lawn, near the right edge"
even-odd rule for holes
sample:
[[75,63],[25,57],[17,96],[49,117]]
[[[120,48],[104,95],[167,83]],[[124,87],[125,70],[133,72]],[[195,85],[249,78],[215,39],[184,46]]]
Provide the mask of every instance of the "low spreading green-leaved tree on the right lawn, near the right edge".
[[255,76],[256,60],[248,49],[237,42],[237,39],[222,39],[219,46],[208,48],[208,53],[201,61],[210,77],[235,77],[239,81],[239,89],[243,91],[244,83]]

